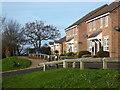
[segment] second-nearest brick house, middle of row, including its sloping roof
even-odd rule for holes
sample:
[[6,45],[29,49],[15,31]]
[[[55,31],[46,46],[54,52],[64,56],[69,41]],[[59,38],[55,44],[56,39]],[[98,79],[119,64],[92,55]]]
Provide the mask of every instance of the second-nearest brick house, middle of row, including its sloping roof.
[[87,35],[87,24],[85,21],[106,6],[107,5],[103,5],[94,11],[91,11],[83,18],[79,19],[65,29],[67,52],[79,52],[87,50],[87,39],[85,38]]

